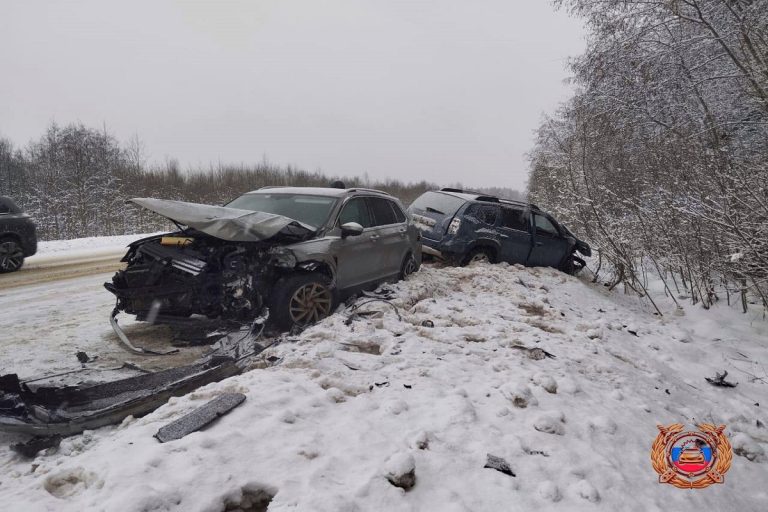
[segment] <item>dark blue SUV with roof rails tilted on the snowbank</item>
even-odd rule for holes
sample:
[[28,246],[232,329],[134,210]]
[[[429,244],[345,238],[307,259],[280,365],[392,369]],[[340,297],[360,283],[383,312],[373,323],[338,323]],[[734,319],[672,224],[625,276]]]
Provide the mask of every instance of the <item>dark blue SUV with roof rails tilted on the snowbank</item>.
[[422,251],[458,265],[473,260],[555,267],[574,273],[590,256],[586,242],[536,205],[443,188],[408,208],[422,232]]

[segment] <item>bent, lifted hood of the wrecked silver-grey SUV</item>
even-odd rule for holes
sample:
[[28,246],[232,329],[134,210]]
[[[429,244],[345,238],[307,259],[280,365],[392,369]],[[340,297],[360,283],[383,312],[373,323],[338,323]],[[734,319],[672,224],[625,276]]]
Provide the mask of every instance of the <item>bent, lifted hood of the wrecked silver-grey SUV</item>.
[[277,234],[305,238],[316,231],[307,224],[273,213],[148,197],[128,201],[178,224],[230,242],[260,242]]

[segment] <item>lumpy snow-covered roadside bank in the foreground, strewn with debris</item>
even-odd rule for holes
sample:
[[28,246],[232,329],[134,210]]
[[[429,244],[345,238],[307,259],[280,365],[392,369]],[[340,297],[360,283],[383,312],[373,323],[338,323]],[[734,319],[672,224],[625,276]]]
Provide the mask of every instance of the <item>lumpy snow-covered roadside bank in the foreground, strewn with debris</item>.
[[[269,349],[265,360],[279,360],[267,368],[32,461],[0,436],[0,508],[219,512],[261,493],[274,496],[270,511],[767,509],[760,317],[724,304],[675,315],[661,302],[669,311],[659,318],[636,297],[504,264],[425,266],[392,288],[391,304],[360,307],[373,317],[340,312]],[[89,307],[72,321],[108,330],[104,306]],[[1,320],[14,314],[3,309]],[[704,380],[722,370],[736,388]],[[153,438],[227,391],[247,400],[184,439]],[[657,483],[656,424],[702,421],[728,427],[737,455],[725,483]],[[483,468],[488,454],[516,476]],[[411,463],[416,485],[404,492],[386,475]]]

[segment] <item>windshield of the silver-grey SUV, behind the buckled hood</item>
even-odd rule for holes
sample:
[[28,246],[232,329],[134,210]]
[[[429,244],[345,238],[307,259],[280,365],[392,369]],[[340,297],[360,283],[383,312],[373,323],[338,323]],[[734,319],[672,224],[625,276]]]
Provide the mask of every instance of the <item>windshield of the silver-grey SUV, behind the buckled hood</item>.
[[335,197],[258,193],[242,195],[226,206],[282,215],[317,229],[328,220],[335,203]]

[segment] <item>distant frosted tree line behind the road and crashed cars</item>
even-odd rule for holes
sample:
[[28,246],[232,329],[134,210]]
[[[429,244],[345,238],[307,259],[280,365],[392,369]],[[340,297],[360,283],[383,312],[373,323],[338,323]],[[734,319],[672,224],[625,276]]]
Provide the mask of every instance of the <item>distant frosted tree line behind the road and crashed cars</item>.
[[[425,191],[438,188],[426,181],[339,177],[266,161],[183,171],[173,159],[148,165],[138,137],[121,144],[106,129],[82,124],[53,123],[39,140],[24,148],[0,138],[0,195],[13,197],[34,217],[42,240],[168,228],[161,217],[125,203],[132,197],[224,204],[264,186],[328,186],[334,180],[343,181],[347,187],[389,192],[406,205]],[[513,190],[498,190],[519,196]]]

